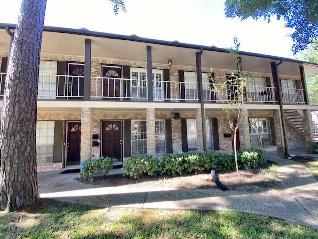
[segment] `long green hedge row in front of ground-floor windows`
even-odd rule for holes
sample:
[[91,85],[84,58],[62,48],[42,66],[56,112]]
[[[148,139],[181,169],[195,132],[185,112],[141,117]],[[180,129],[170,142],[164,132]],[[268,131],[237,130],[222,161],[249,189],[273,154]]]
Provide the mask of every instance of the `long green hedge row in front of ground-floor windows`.
[[[266,161],[265,151],[250,149],[238,151],[239,168],[251,169]],[[134,156],[124,162],[124,176],[139,178],[142,175],[184,175],[199,171],[231,171],[235,169],[234,155],[218,152],[165,154],[162,159],[154,156]]]

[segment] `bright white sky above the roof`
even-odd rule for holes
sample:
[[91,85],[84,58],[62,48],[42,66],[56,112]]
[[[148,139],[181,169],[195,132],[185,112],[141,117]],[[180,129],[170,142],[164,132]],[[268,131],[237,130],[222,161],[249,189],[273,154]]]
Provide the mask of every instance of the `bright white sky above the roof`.
[[[1,23],[16,23],[22,0],[0,0]],[[47,0],[46,26],[136,34],[159,40],[295,58],[283,20],[226,18],[224,0],[125,0],[127,13],[115,15],[109,0]]]

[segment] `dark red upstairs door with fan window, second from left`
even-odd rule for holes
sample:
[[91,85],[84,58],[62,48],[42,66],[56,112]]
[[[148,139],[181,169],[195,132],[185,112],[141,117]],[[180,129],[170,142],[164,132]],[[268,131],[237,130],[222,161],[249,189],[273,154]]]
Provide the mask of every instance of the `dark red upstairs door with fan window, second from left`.
[[[121,67],[102,66],[103,96],[106,99],[120,100]],[[108,98],[109,97],[109,98]]]

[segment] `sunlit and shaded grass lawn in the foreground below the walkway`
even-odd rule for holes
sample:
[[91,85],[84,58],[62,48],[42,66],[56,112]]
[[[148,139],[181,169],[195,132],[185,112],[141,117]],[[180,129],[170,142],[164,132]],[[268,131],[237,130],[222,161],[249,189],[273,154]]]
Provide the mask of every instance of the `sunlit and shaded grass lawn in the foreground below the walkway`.
[[42,201],[0,212],[0,238],[28,239],[317,239],[314,229],[237,212],[92,208]]

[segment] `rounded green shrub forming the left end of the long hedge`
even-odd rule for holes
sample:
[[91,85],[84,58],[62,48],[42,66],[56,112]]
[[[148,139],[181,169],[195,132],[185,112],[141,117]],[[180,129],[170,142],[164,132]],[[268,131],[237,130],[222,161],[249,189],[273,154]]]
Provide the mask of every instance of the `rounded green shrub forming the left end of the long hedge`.
[[151,155],[133,156],[123,165],[124,176],[138,179],[142,175],[156,176],[161,173],[160,163]]

